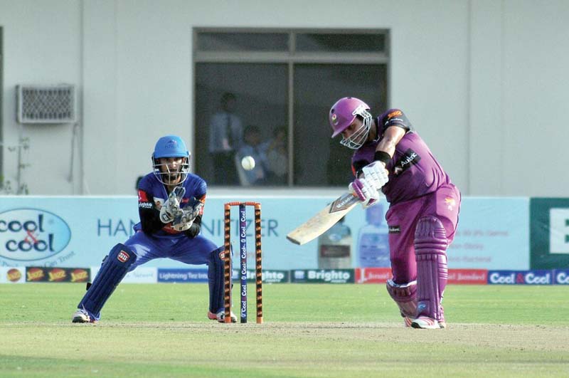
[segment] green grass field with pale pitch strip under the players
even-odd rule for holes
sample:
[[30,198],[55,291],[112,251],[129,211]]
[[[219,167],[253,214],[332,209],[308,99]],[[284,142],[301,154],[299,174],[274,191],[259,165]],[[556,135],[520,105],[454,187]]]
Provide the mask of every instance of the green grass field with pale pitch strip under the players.
[[567,377],[568,290],[451,285],[447,330],[413,330],[383,285],[265,284],[265,323],[225,325],[207,285],[123,284],[78,325],[84,285],[4,284],[0,377]]

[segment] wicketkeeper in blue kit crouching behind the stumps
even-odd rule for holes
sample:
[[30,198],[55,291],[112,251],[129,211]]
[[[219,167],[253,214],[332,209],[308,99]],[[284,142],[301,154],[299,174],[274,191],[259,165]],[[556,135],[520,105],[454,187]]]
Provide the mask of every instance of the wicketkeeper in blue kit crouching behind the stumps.
[[[134,235],[118,243],[103,259],[99,273],[73,314],[73,322],[97,322],[100,311],[120,281],[154,258],[208,266],[211,320],[224,321],[223,252],[200,234],[206,182],[189,172],[190,153],[176,135],[161,137],[151,156],[153,172],[138,186],[140,222]],[[231,313],[231,321],[237,317]]]

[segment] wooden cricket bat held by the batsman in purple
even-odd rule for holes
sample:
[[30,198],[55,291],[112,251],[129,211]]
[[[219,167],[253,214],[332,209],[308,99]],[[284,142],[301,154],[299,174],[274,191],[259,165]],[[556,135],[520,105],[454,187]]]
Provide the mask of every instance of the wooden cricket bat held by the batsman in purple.
[[287,239],[292,241],[292,243],[302,246],[302,244],[314,240],[330,229],[331,226],[334,226],[342,216],[348,214],[349,211],[359,203],[360,200],[357,196],[346,191],[346,193],[339,196],[334,202],[306,221],[306,223],[290,231],[287,235]]

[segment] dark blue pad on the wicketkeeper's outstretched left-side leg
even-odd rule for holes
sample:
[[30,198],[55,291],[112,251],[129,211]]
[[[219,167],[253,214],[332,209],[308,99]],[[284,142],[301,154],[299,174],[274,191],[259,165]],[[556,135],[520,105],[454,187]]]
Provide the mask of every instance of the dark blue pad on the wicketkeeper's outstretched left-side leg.
[[102,306],[127,275],[134,261],[137,261],[137,255],[129,247],[121,243],[114,246],[102,261],[97,277],[77,307],[83,308],[92,318],[98,320]]

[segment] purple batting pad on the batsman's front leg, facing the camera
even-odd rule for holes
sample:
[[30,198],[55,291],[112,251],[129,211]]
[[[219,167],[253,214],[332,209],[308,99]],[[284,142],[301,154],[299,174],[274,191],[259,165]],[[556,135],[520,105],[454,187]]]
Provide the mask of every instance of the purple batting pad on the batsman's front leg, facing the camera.
[[439,219],[419,219],[415,230],[418,316],[443,318],[440,303],[448,278],[447,246],[447,233]]

